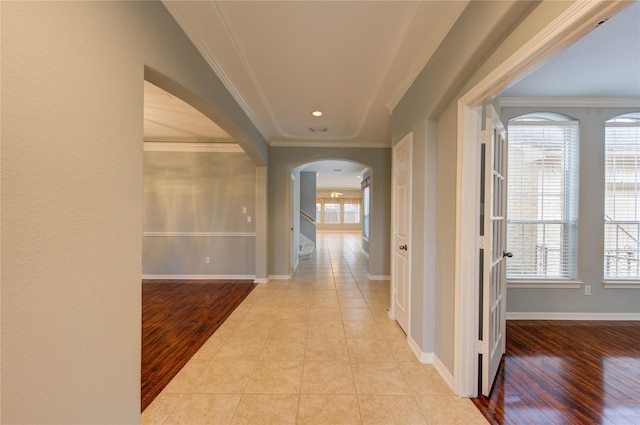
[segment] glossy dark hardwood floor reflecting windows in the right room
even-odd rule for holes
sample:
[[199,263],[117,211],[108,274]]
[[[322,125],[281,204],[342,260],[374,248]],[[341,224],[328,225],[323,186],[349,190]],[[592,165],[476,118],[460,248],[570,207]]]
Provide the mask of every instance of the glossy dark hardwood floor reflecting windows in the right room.
[[640,322],[508,321],[492,424],[639,425]]

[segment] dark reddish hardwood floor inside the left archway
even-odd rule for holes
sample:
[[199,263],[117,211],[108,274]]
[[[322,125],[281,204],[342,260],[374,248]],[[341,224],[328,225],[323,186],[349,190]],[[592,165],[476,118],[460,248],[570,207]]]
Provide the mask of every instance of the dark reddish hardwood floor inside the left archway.
[[255,285],[253,281],[142,281],[142,411]]

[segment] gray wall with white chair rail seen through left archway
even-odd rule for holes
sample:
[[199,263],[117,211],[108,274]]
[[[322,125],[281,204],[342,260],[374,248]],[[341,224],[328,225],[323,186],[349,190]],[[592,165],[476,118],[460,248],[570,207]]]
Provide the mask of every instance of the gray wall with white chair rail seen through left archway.
[[145,152],[143,187],[145,277],[255,275],[256,166],[247,154]]

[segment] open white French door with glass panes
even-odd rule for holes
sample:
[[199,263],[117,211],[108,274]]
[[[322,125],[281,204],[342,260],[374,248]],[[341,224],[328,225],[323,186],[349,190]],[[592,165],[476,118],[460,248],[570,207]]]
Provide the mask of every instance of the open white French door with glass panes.
[[507,133],[487,107],[482,164],[482,394],[493,387],[506,343]]

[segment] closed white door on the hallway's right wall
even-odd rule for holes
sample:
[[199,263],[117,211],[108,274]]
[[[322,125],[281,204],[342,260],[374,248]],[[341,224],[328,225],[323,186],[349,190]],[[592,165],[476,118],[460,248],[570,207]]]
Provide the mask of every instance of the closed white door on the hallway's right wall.
[[393,149],[393,256],[392,303],[400,327],[409,333],[411,304],[411,149],[412,134],[408,134]]

